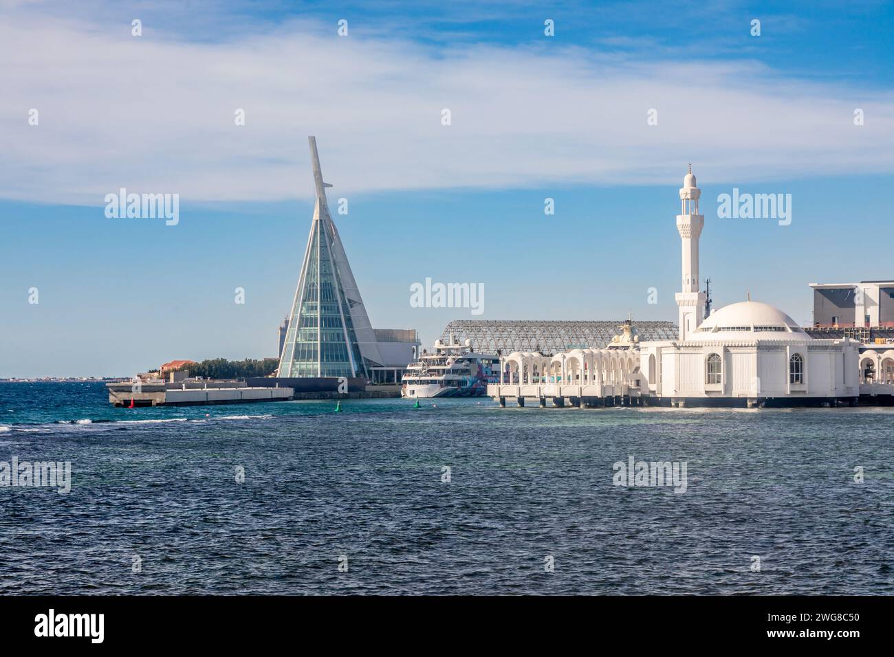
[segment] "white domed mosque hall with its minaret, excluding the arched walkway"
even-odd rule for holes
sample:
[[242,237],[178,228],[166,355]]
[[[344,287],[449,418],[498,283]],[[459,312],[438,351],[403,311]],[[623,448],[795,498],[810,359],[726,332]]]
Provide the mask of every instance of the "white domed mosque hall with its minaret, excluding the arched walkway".
[[856,402],[860,343],[814,339],[779,308],[747,300],[704,317],[698,289],[701,190],[689,170],[679,190],[683,245],[679,339],[640,344],[649,392],[677,406],[823,405]]

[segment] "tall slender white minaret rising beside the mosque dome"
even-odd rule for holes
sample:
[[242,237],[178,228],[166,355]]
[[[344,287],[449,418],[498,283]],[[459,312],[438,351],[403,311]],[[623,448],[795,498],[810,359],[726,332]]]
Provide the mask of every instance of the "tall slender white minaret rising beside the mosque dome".
[[698,198],[702,190],[696,187],[696,176],[689,173],[679,190],[682,214],[677,215],[677,230],[683,242],[683,287],[676,295],[679,306],[679,339],[688,340],[704,318],[704,292],[698,290],[698,238],[702,234],[704,215],[698,214]]

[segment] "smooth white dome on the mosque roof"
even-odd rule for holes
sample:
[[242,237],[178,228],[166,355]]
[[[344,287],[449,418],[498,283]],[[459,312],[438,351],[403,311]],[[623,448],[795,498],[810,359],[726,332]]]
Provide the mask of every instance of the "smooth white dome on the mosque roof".
[[779,308],[759,301],[741,301],[713,312],[690,339],[805,341],[811,337]]

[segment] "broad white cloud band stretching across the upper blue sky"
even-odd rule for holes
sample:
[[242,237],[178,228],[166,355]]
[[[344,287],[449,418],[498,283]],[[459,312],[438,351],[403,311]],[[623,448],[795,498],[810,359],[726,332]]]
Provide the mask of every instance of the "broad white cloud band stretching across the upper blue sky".
[[647,62],[546,38],[439,51],[308,22],[190,43],[151,22],[134,38],[129,22],[7,6],[3,198],[100,205],[119,187],[186,200],[308,196],[308,134],[336,194],[666,184],[688,161],[739,184],[894,170],[890,89],[792,80],[758,63]]

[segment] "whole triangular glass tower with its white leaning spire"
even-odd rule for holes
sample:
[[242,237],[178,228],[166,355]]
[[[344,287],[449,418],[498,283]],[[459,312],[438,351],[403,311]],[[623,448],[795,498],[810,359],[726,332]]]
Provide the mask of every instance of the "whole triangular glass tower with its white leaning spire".
[[375,332],[335,229],[316,138],[308,137],[316,207],[277,376],[368,377],[382,363]]

